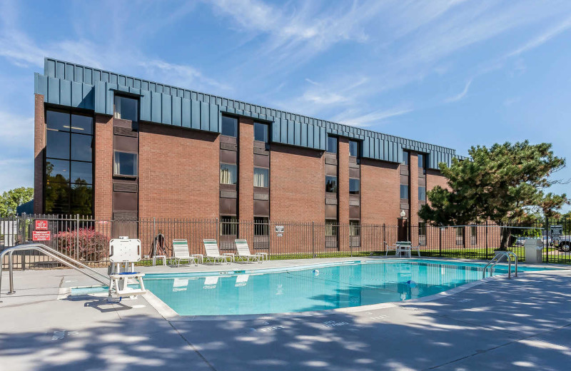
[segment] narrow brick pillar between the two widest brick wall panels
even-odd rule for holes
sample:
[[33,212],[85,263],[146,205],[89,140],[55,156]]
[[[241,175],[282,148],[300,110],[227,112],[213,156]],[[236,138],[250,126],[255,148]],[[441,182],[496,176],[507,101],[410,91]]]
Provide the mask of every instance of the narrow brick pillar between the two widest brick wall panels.
[[254,218],[254,126],[251,118],[238,119],[238,218]]

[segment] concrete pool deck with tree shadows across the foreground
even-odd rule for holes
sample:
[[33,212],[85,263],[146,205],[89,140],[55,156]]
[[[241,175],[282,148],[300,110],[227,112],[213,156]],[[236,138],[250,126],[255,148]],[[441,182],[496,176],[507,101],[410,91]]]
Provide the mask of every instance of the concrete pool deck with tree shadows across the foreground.
[[[350,260],[138,267],[243,270]],[[458,260],[454,260],[458,261]],[[554,268],[552,265],[550,268]],[[1,370],[568,370],[571,270],[485,280],[453,295],[358,312],[166,320],[145,298],[61,295],[74,270],[14,272],[0,303]]]

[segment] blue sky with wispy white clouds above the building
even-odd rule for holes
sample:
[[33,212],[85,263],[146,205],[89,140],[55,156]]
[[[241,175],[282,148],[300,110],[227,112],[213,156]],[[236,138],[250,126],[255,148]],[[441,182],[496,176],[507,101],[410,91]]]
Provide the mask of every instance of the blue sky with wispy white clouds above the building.
[[33,184],[44,56],[463,155],[529,139],[571,161],[570,45],[568,0],[1,1],[0,191]]

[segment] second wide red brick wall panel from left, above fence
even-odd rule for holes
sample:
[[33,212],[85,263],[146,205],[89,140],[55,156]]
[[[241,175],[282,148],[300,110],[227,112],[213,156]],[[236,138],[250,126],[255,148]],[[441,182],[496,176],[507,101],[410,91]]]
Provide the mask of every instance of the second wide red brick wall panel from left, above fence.
[[272,143],[271,219],[325,223],[323,152]]

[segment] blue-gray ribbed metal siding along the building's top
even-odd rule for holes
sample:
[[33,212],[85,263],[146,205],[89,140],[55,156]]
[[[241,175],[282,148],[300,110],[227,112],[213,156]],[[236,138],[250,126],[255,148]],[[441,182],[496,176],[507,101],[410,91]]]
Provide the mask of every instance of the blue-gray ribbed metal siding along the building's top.
[[325,151],[327,135],[354,138],[362,143],[362,156],[400,162],[404,150],[428,154],[428,167],[450,165],[455,150],[375,131],[323,121],[233,99],[213,96],[153,81],[46,58],[44,75],[36,73],[35,91],[47,103],[85,108],[113,115],[115,91],[141,96],[141,121],[221,132],[221,113],[248,116],[272,124],[271,141]]

